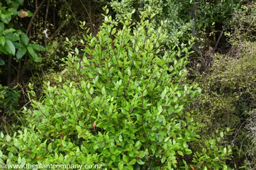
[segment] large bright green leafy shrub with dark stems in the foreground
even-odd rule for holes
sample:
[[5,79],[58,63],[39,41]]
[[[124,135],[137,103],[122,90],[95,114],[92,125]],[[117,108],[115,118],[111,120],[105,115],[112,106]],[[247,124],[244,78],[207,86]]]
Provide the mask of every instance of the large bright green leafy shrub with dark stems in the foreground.
[[121,23],[116,30],[117,23],[105,16],[97,36],[83,35],[85,48],[70,51],[70,80],[47,82],[40,101],[30,91],[33,108],[24,107],[29,125],[13,136],[1,133],[0,162],[102,164],[104,169],[197,166],[187,159],[201,127],[184,111],[200,92],[184,81],[188,49],[162,48],[163,22],[155,29],[149,20]]

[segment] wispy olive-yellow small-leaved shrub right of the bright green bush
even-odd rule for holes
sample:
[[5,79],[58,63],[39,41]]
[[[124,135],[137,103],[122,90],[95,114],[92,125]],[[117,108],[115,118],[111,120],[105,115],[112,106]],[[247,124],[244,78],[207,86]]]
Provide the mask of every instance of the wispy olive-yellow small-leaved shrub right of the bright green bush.
[[[240,168],[255,165],[255,3],[242,6],[231,18],[231,49],[226,55],[212,55],[207,71],[197,75],[203,94],[193,103],[197,121],[207,124],[205,136],[221,128],[231,128],[233,162]],[[247,161],[245,161],[247,160]],[[245,162],[243,162],[245,161]]]

